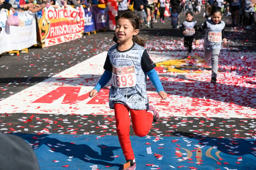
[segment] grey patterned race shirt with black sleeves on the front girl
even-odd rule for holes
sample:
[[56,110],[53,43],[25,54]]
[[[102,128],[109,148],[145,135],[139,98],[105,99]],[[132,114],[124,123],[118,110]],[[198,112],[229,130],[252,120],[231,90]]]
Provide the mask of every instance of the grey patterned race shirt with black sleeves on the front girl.
[[143,46],[134,43],[127,51],[112,46],[104,65],[105,70],[112,72],[109,108],[113,109],[114,103],[122,103],[130,109],[148,109],[146,73],[154,67]]

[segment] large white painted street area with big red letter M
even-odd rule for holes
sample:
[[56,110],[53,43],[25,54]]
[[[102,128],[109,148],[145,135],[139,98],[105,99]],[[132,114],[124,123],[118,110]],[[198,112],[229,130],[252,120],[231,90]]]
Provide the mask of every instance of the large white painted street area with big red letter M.
[[[53,77],[0,101],[0,113],[113,114],[108,106],[109,86],[95,98],[88,93],[100,79],[107,52],[70,67]],[[235,54],[234,54],[235,55]],[[180,59],[181,52],[150,53],[154,62]],[[167,116],[256,118],[256,78],[220,72],[210,85],[210,72],[189,74],[156,67],[167,100],[161,100],[150,81],[150,104]],[[234,84],[235,83],[235,84]]]

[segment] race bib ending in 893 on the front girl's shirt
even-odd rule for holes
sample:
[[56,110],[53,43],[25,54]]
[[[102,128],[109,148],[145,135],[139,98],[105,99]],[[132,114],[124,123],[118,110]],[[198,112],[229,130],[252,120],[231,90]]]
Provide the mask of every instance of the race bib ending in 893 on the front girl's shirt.
[[112,85],[114,87],[135,87],[136,74],[134,66],[113,67],[112,70]]

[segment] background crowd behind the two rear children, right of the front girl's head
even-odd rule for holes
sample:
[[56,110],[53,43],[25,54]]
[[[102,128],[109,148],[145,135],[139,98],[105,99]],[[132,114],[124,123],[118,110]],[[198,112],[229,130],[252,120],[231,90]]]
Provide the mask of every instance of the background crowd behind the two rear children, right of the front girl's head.
[[[117,0],[122,4],[120,11],[132,9],[140,17],[141,27],[145,24],[153,28],[154,22],[164,23],[164,12],[166,5],[169,5],[169,20],[173,28],[179,25],[179,15],[191,11],[194,14],[203,14],[203,17],[210,17],[211,6],[218,6],[223,15],[232,17],[234,27],[241,26],[252,29],[255,22],[255,0]],[[125,7],[124,7],[125,4]]]

